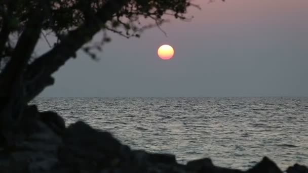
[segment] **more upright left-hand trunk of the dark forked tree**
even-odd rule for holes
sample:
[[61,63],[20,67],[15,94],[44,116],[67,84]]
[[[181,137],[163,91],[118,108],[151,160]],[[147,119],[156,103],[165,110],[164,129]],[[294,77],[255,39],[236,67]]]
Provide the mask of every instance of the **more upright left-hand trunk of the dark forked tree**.
[[[11,137],[11,133],[26,106],[24,93],[24,70],[33,53],[37,40],[40,38],[44,15],[36,10],[27,21],[25,29],[19,36],[11,54],[10,61],[0,74],[0,122],[2,135]],[[2,38],[5,39],[5,38]],[[1,45],[4,45],[3,43]]]

